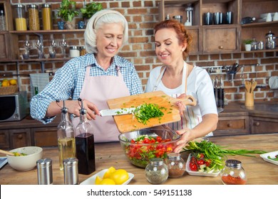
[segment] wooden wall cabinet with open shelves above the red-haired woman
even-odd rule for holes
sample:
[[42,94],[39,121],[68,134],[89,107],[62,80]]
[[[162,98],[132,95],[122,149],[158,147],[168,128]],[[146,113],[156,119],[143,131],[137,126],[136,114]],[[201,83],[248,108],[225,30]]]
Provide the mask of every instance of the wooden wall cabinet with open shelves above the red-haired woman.
[[[167,15],[170,18],[181,15],[182,23],[187,20],[186,7],[192,4],[193,24],[187,26],[190,33],[193,33],[193,49],[190,54],[212,54],[212,53],[240,53],[244,52],[242,41],[256,38],[257,41],[264,41],[269,30],[278,34],[278,21],[258,22],[261,14],[274,13],[278,11],[276,0],[161,0],[159,4],[159,19],[164,20]],[[215,13],[227,11],[232,12],[232,24],[204,25],[203,15],[207,12]],[[243,17],[255,17],[256,21],[249,24],[241,24]],[[200,31],[197,34],[197,30]],[[198,44],[200,43],[200,44]],[[256,52],[277,51],[257,50]],[[249,53],[254,50],[249,51]]]

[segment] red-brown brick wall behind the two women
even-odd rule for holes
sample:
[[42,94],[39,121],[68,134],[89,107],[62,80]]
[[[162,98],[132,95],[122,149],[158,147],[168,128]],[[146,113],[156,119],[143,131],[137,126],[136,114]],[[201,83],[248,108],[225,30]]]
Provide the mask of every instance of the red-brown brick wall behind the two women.
[[[11,0],[12,4],[43,4],[48,3],[52,5],[53,12],[59,7],[58,0],[37,1],[37,0]],[[81,8],[86,2],[90,1],[76,1],[77,7]],[[135,64],[138,70],[142,84],[148,80],[148,75],[151,69],[160,65],[159,60],[155,57],[154,43],[153,43],[153,26],[158,22],[158,3],[159,1],[98,1],[101,2],[104,9],[115,9],[120,11],[128,20],[129,24],[129,44],[125,45],[119,55],[127,58]],[[57,21],[60,18],[53,19],[53,27],[57,28]],[[81,18],[76,18],[80,21]],[[61,41],[66,39],[68,45],[83,45],[83,33],[76,34],[50,34],[43,36],[44,53],[48,54],[48,46],[54,39]],[[38,36],[19,36],[20,52],[23,51],[24,42],[26,40],[35,43]],[[58,55],[61,56],[61,48],[57,50]],[[31,55],[36,57],[36,48],[31,50]],[[68,53],[68,49],[67,49]],[[242,84],[244,80],[253,79],[258,82],[259,88],[254,92],[256,102],[260,101],[277,101],[274,98],[274,91],[269,90],[268,80],[269,77],[278,75],[278,58],[277,52],[272,53],[232,53],[232,54],[212,54],[212,55],[190,55],[187,62],[199,66],[213,66],[213,65],[232,65],[239,63],[244,65],[237,72],[235,80],[230,82],[227,80],[225,72],[217,75],[212,74],[211,77],[219,77],[222,75],[225,80],[225,97],[227,102],[243,101],[244,100],[244,87]],[[56,70],[61,68],[64,62],[45,63],[46,70]],[[254,66],[253,64],[257,64]],[[251,64],[251,65],[250,65]],[[16,65],[0,65],[0,70],[5,73],[16,73]],[[41,72],[40,63],[29,63],[19,65],[21,90],[30,90],[29,74]]]

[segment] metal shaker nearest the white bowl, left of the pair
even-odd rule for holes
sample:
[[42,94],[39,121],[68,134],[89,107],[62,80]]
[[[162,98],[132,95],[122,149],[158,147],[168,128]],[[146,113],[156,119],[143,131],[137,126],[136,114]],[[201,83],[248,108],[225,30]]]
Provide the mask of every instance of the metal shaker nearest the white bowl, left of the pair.
[[52,160],[44,158],[36,161],[38,185],[52,185]]

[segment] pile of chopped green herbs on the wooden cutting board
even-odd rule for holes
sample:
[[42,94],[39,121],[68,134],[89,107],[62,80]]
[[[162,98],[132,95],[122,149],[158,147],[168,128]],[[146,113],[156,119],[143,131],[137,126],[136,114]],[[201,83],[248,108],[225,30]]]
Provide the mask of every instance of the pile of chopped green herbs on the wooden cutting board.
[[[163,117],[164,113],[160,110],[164,107],[158,107],[158,104],[142,104],[136,107],[134,115],[138,122],[147,124],[150,118]],[[165,109],[165,108],[164,108]]]

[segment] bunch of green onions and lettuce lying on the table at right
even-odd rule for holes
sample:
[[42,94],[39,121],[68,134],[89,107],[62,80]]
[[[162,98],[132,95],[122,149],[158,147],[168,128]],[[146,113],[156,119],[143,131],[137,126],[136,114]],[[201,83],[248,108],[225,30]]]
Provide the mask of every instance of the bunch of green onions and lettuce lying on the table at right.
[[[224,146],[220,146],[212,143],[211,141],[190,141],[185,148],[183,148],[182,152],[189,151],[193,154],[205,154],[205,158],[210,159],[210,169],[214,169],[215,171],[220,171],[224,167],[225,157],[227,155],[235,156],[250,156],[249,154],[264,154],[266,151],[260,150],[246,150],[246,149],[237,149],[230,150],[225,149]],[[181,153],[182,153],[181,152]]]

